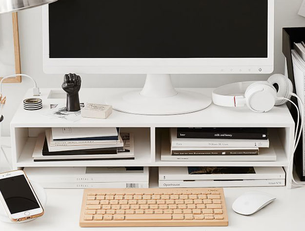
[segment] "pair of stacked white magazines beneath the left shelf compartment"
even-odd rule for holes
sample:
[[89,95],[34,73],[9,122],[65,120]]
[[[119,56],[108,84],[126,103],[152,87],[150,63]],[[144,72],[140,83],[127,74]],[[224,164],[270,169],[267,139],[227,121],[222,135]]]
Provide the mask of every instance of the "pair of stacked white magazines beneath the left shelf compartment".
[[148,167],[25,167],[44,188],[148,188]]

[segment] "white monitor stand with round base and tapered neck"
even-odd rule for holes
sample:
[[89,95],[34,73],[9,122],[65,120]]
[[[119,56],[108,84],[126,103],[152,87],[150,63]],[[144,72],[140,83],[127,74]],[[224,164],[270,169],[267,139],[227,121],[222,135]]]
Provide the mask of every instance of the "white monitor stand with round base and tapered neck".
[[176,115],[200,111],[212,103],[203,94],[176,90],[170,74],[147,74],[143,89],[109,96],[117,111],[140,115]]

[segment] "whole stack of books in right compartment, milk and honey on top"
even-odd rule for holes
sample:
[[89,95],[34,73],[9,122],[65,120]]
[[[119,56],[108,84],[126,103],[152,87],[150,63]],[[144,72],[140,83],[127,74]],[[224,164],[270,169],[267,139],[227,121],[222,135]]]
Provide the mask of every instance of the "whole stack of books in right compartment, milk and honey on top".
[[[267,128],[171,128],[164,161],[275,161]],[[170,151],[168,151],[170,149]]]

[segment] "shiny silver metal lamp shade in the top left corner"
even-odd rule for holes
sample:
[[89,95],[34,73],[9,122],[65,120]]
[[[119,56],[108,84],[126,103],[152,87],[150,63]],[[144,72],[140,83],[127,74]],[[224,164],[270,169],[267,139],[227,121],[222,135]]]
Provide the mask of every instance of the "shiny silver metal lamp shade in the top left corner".
[[0,0],[0,14],[41,6],[57,0]]

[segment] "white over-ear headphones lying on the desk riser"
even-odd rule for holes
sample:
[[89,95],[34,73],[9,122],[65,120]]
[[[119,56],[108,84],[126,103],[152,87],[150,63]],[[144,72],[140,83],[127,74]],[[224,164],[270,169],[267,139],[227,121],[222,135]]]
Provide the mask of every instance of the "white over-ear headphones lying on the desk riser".
[[267,112],[290,99],[292,83],[285,75],[274,74],[267,81],[227,84],[212,93],[213,103],[224,107],[244,107]]

